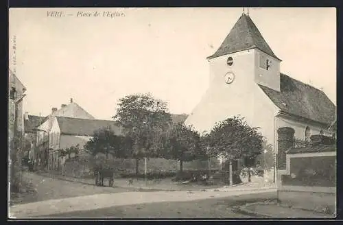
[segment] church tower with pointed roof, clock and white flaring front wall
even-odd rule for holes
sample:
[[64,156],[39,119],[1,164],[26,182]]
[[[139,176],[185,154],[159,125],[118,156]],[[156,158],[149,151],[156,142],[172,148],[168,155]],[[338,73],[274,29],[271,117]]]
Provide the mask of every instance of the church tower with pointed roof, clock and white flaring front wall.
[[[241,115],[253,125],[261,86],[280,91],[280,62],[252,22],[242,14],[222,45],[207,58],[209,88],[185,123],[199,132],[216,122]],[[265,97],[265,96],[263,96]]]

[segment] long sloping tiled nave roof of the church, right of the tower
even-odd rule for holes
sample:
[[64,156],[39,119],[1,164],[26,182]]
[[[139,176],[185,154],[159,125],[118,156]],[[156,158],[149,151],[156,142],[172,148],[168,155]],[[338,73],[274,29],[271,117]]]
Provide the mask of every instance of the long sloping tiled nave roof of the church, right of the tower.
[[261,84],[259,86],[281,112],[328,125],[335,121],[335,105],[324,92],[313,86],[283,73],[280,74],[280,92]]

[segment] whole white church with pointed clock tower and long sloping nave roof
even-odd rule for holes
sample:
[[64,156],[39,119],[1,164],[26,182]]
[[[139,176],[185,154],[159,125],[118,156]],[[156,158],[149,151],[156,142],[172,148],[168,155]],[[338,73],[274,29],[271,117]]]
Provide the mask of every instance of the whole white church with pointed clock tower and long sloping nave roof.
[[[265,146],[276,153],[277,178],[285,174],[285,154],[278,154],[278,130],[294,129],[294,139],[309,143],[311,135],[332,136],[336,107],[318,88],[280,72],[281,59],[255,23],[242,14],[209,61],[209,88],[185,123],[200,133],[234,116],[259,127]],[[244,158],[236,168],[244,165]]]

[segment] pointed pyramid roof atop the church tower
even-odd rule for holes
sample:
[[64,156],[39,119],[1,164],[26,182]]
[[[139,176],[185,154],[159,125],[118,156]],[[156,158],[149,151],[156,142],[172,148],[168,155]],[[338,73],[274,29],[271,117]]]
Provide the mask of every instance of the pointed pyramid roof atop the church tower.
[[219,49],[215,51],[215,54],[207,58],[216,58],[218,56],[253,48],[257,48],[266,54],[279,59],[275,56],[272,49],[270,49],[268,43],[265,42],[255,23],[252,22],[248,15],[242,14],[230,30],[228,36],[226,36],[222,45],[220,45]]

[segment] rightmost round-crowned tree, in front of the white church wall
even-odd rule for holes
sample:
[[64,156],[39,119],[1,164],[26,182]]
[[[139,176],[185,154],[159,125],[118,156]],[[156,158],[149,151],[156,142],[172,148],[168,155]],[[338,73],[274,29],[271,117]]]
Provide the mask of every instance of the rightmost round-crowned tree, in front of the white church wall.
[[243,117],[233,117],[216,123],[206,138],[212,154],[222,156],[230,163],[241,157],[246,158],[246,162],[252,162],[262,151],[263,136],[257,130],[248,126]]

